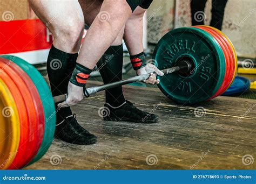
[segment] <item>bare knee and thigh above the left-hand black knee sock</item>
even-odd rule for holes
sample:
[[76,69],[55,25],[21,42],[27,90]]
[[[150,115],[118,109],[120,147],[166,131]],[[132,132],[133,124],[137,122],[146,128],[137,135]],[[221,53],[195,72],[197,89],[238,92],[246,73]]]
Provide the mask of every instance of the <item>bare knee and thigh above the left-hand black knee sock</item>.
[[53,45],[77,53],[84,30],[84,17],[77,0],[29,0],[36,15],[53,34]]

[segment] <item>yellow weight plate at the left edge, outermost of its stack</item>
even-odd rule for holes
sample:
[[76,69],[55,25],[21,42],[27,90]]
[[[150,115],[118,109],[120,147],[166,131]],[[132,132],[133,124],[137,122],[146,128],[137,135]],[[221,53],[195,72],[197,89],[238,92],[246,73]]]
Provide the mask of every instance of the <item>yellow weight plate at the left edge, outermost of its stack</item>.
[[0,79],[0,169],[8,168],[15,159],[20,135],[18,109],[10,90]]

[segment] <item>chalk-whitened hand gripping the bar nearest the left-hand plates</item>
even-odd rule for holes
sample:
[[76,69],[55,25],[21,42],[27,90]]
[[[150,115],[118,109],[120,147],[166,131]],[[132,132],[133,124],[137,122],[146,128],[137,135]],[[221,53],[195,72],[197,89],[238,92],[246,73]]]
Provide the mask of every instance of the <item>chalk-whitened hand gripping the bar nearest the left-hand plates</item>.
[[84,88],[76,86],[69,82],[68,86],[68,98],[66,98],[65,102],[59,103],[58,107],[65,108],[76,105],[78,102],[83,100],[84,97]]

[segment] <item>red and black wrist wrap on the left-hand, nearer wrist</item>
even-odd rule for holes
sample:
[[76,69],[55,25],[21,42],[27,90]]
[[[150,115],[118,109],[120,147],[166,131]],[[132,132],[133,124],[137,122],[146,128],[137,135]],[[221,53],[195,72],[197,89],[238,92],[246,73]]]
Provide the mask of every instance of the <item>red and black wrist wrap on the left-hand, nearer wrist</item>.
[[85,66],[77,63],[72,73],[72,76],[70,78],[70,82],[72,84],[75,84],[76,86],[85,87],[85,84],[91,72],[92,72],[91,69],[86,68]]

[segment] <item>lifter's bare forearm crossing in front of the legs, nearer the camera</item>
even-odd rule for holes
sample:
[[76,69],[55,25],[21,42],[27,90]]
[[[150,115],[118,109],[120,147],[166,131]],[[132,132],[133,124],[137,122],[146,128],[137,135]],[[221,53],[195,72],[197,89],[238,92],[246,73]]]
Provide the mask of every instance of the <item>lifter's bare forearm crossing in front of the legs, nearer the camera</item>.
[[87,68],[95,67],[107,48],[117,38],[132,11],[126,1],[105,0],[93,21],[77,62]]

